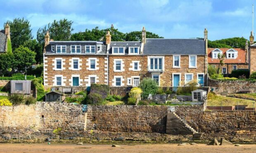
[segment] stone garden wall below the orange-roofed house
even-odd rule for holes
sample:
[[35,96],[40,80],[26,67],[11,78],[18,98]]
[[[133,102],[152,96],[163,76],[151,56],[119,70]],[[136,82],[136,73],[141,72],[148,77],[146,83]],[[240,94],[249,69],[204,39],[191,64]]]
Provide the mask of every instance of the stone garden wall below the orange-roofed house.
[[228,94],[239,93],[242,90],[250,90],[251,93],[256,93],[255,81],[243,80],[214,80],[208,79],[208,85],[214,87],[215,93],[228,92]]

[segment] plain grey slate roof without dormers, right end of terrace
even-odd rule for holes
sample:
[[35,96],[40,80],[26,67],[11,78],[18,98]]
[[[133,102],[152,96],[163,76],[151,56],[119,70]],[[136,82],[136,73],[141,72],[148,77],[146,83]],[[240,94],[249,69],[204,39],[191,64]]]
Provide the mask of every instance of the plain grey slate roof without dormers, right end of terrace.
[[144,45],[146,55],[205,55],[203,39],[149,39]]

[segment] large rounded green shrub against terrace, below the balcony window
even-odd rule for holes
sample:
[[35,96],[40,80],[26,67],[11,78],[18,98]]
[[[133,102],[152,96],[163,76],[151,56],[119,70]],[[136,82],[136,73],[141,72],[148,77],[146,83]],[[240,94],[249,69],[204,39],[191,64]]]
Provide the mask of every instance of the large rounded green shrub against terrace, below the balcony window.
[[147,98],[149,94],[155,95],[158,90],[158,83],[152,78],[144,78],[139,84],[139,87],[142,89],[141,96]]

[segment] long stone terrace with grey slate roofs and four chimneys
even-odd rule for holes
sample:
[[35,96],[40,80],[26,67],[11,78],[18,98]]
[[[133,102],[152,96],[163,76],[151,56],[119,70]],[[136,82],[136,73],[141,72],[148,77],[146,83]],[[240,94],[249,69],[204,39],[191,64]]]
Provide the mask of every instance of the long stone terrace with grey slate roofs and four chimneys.
[[[146,39],[141,42],[50,41],[45,35],[44,85],[138,86],[152,77],[159,86],[179,86],[197,79],[206,85],[207,30],[204,39]],[[184,84],[182,84],[184,85]]]

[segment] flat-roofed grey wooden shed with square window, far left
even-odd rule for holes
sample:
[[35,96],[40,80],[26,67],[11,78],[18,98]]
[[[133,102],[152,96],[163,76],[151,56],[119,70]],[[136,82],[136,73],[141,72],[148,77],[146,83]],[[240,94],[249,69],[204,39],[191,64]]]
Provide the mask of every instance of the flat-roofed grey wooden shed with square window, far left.
[[11,93],[31,94],[31,81],[11,80]]

